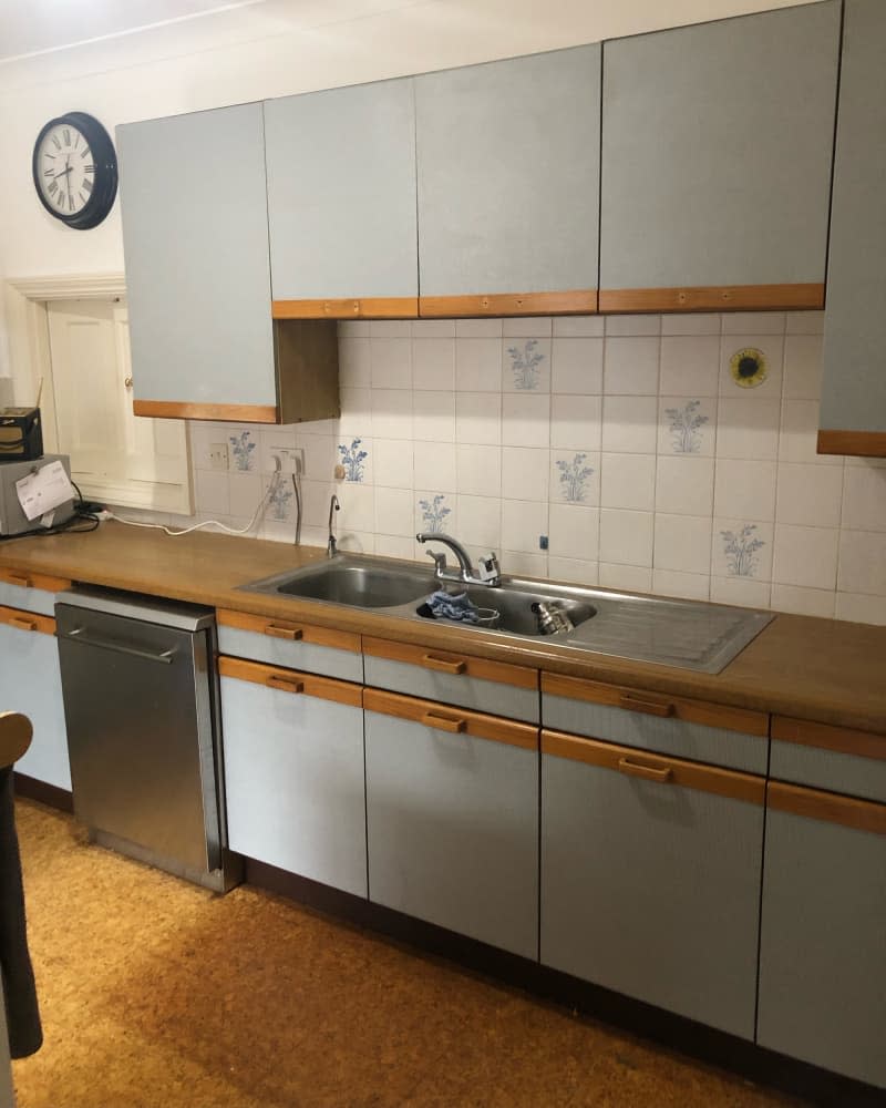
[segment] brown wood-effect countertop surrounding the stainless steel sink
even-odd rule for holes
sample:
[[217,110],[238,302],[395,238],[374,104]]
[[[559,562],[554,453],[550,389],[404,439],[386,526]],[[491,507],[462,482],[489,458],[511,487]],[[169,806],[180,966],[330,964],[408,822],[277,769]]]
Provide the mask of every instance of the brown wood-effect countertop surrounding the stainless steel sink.
[[[722,673],[698,674],[593,654],[548,639],[413,623],[238,586],[322,560],[312,546],[101,524],[87,534],[0,544],[0,566],[174,599],[395,638],[553,673],[886,732],[886,627],[776,615]],[[507,566],[504,566],[507,572]]]

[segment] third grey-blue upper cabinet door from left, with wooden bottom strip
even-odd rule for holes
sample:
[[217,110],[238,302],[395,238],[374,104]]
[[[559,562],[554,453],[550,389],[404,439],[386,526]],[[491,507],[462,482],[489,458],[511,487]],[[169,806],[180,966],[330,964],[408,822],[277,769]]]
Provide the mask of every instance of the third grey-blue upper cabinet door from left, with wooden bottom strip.
[[415,111],[421,314],[594,311],[599,43],[425,74]]

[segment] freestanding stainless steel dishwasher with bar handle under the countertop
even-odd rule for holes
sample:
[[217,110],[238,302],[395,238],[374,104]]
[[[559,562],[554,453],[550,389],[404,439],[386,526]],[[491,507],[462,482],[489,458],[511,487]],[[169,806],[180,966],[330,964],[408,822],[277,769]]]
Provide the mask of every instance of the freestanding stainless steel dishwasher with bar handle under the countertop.
[[93,841],[231,888],[215,613],[74,588],[55,620],[74,814]]

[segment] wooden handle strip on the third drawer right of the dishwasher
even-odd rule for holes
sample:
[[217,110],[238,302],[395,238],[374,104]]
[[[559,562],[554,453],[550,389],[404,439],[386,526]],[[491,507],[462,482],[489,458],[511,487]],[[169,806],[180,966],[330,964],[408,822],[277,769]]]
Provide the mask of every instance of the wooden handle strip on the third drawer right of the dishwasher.
[[542,691],[549,696],[563,696],[570,700],[585,700],[589,704],[604,704],[628,710],[632,710],[632,702],[641,698],[646,706],[643,710],[647,712],[650,712],[655,705],[658,706],[656,715],[670,716],[672,719],[682,719],[689,724],[702,724],[705,727],[722,727],[729,731],[741,731],[760,738],[769,736],[769,715],[764,711],[751,711],[749,708],[732,708],[722,704],[708,704],[705,700],[691,700],[688,697],[622,688],[580,677],[566,677],[563,674],[543,673]]

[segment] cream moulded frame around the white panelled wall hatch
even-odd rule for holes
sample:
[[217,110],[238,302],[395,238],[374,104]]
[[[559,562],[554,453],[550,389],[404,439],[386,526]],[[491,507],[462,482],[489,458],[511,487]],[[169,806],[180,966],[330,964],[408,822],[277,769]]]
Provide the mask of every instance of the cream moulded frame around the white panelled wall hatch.
[[[55,390],[52,378],[52,353],[49,339],[49,308],[51,300],[104,300],[119,304],[126,297],[126,278],[122,273],[60,274],[43,277],[8,278],[3,284],[9,337],[9,362],[16,403],[32,404],[37,400],[40,381],[43,390],[40,409],[43,421],[43,449],[59,453],[59,427],[55,411]],[[190,515],[194,511],[190,476],[189,435],[185,434],[187,474],[181,486],[179,503],[158,511]],[[104,486],[91,488],[89,495],[96,500],[114,500],[123,486],[109,481]],[[133,504],[133,506],[136,506]],[[152,504],[137,505],[152,510]]]

